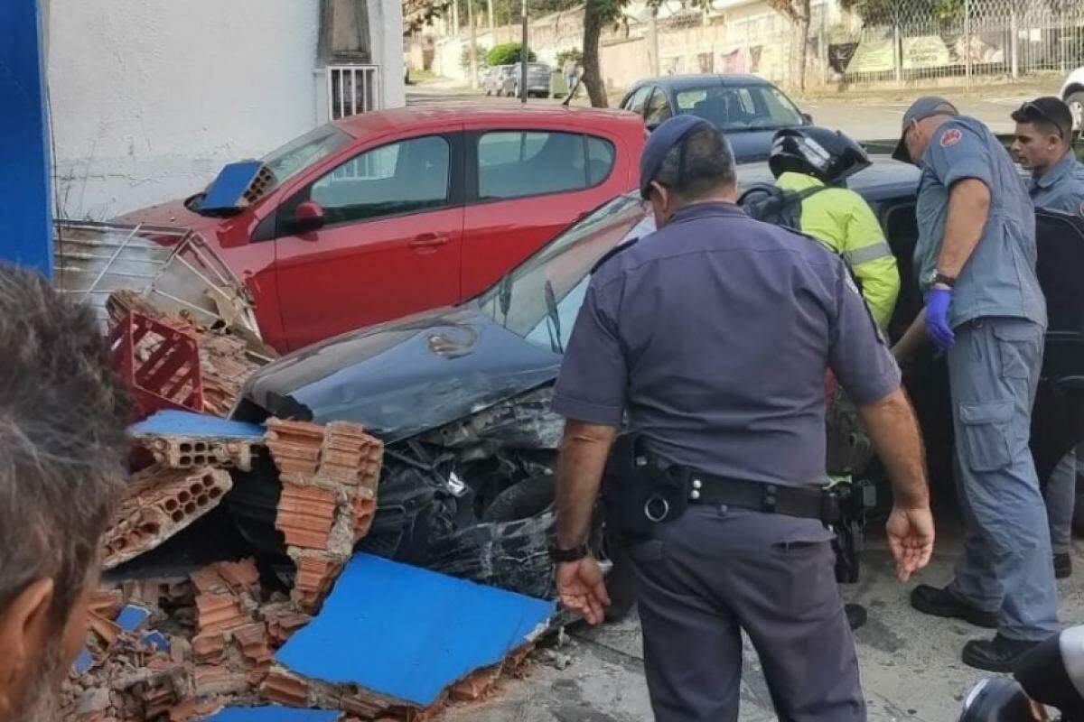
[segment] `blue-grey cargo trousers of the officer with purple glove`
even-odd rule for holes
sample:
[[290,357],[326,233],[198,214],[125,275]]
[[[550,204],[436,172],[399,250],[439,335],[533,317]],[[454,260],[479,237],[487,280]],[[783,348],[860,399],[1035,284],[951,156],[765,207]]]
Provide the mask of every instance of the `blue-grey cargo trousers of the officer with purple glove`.
[[1042,640],[1058,631],[1050,528],[1028,447],[1043,328],[986,317],[955,331],[949,381],[967,533],[951,589],[999,613],[1003,636]]

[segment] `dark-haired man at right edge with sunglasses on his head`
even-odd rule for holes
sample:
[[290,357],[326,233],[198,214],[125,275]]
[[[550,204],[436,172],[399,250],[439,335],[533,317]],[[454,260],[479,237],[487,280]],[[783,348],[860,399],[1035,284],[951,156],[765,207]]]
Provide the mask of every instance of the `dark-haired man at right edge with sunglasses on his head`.
[[[1035,208],[1084,216],[1084,163],[1072,150],[1073,117],[1054,96],[1028,101],[1012,113],[1016,140],[1012,153],[1031,171],[1028,188]],[[1073,573],[1070,544],[1076,506],[1076,470],[1084,461],[1084,444],[1064,456],[1046,483],[1046,514],[1050,522],[1054,576]]]

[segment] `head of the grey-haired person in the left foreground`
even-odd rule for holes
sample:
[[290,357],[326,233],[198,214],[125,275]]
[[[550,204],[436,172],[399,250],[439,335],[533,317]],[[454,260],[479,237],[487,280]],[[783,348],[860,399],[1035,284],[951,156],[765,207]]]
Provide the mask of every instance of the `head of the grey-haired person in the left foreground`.
[[59,719],[126,418],[92,311],[0,263],[0,722]]

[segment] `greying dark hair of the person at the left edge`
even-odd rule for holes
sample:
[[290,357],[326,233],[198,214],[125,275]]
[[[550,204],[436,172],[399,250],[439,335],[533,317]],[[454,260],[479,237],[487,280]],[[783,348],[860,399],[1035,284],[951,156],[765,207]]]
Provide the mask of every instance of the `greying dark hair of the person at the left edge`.
[[82,591],[124,485],[128,403],[92,311],[0,263],[0,608],[50,578]]

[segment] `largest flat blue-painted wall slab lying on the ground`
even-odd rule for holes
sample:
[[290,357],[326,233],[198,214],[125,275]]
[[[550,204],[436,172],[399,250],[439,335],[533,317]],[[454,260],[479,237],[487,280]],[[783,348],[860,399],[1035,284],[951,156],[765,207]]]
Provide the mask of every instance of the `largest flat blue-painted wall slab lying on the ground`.
[[501,661],[553,613],[552,602],[357,554],[275,660],[313,680],[426,706]]

